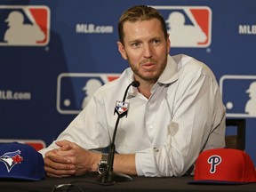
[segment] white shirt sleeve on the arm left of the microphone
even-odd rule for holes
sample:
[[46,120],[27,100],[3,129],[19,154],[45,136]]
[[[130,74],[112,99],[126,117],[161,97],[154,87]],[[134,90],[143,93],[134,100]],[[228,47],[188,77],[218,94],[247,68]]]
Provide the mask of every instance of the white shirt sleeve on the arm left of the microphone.
[[[92,97],[88,105],[76,116],[68,127],[60,133],[56,140],[69,140],[86,149],[105,148],[110,142],[104,100]],[[45,153],[59,148],[54,140],[52,144],[39,152]]]

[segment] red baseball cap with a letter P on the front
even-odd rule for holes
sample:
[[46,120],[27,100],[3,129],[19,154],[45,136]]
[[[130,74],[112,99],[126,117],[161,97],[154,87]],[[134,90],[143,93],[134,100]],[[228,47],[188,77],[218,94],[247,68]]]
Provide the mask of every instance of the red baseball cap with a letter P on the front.
[[234,148],[215,148],[202,152],[196,160],[194,181],[201,184],[246,184],[256,182],[251,157]]

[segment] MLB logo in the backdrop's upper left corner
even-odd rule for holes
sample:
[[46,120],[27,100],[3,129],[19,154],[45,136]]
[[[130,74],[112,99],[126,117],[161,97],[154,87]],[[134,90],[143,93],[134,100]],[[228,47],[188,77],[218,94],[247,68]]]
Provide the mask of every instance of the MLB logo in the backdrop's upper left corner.
[[44,46],[49,40],[47,6],[0,6],[0,46]]

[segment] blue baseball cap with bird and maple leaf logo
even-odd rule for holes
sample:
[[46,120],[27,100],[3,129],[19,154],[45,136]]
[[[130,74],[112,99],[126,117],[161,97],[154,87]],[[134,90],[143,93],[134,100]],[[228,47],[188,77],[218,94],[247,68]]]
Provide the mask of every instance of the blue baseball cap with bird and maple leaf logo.
[[28,144],[0,144],[0,179],[43,180],[43,156]]

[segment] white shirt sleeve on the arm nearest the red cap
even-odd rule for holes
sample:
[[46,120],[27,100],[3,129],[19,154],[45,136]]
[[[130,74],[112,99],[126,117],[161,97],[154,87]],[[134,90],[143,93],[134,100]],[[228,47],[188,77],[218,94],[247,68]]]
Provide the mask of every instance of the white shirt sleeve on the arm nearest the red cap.
[[182,176],[200,151],[224,147],[225,108],[215,77],[207,68],[198,72],[190,68],[182,73],[175,83],[179,88],[172,90],[175,99],[169,101],[172,122],[164,146],[136,153],[140,176]]

